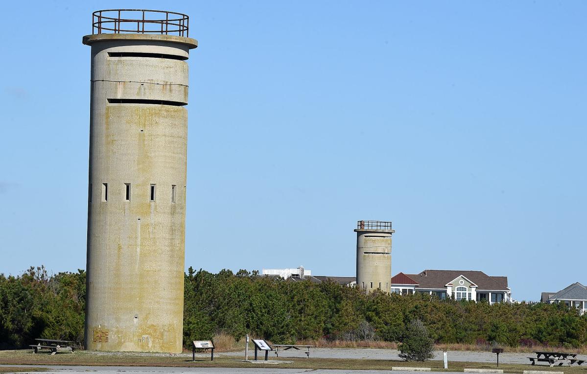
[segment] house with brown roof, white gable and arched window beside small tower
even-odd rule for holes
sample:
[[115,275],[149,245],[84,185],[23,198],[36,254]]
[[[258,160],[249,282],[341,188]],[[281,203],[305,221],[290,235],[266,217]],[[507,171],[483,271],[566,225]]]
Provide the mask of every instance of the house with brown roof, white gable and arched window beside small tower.
[[399,274],[392,277],[392,292],[396,294],[436,295],[440,299],[511,302],[508,277],[491,277],[483,271],[424,270],[419,274]]

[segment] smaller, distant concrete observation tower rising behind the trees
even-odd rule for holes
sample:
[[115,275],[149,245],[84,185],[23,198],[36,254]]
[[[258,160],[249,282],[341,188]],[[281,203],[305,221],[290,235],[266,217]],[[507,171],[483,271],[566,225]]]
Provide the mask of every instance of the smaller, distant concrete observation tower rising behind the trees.
[[392,279],[391,222],[357,222],[357,287],[389,293]]

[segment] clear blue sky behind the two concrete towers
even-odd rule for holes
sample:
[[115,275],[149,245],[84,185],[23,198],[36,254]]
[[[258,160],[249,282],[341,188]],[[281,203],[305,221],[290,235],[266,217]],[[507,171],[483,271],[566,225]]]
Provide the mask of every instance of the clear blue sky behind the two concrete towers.
[[91,12],[190,15],[185,263],[587,283],[587,3],[6,2],[0,272],[86,265]]

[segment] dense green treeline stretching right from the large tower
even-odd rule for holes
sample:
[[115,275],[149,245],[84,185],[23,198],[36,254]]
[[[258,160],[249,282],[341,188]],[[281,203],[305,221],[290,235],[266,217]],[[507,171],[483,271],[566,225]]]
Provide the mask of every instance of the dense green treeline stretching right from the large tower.
[[[397,341],[420,319],[437,343],[500,343],[576,347],[587,343],[587,315],[547,304],[438,300],[434,296],[366,294],[333,282],[287,282],[239,271],[190,271],[185,278],[184,339],[216,331],[272,342],[367,338]],[[366,324],[366,323],[367,324]]]

